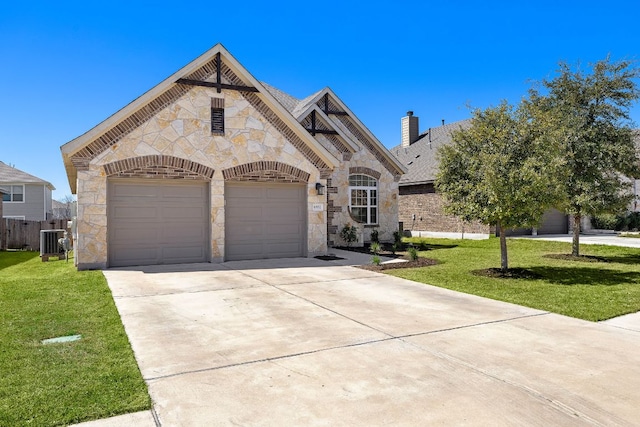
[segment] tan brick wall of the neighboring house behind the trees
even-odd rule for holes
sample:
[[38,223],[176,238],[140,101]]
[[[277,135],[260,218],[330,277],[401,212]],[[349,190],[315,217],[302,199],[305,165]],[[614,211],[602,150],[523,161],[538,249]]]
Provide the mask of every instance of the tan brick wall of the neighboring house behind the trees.
[[[400,187],[399,219],[409,231],[432,231],[447,233],[489,233],[489,226],[479,222],[465,222],[445,215],[442,197],[435,192],[433,184]],[[416,219],[413,219],[413,215]]]

